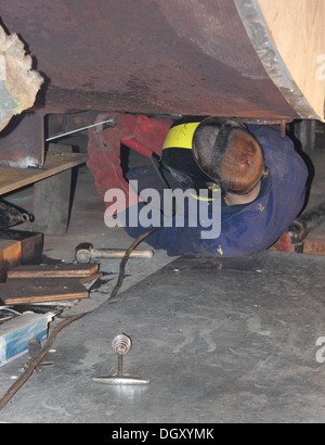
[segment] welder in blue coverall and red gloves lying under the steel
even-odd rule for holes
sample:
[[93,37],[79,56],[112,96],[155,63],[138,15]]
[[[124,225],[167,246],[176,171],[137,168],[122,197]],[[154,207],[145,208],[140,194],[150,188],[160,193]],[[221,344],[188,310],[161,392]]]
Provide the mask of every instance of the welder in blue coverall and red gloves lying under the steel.
[[[109,141],[107,156],[112,156],[122,141],[143,154],[151,150],[155,152],[153,156],[158,154],[160,171],[158,175],[154,166],[131,169],[128,180],[132,188],[122,187],[123,192],[129,191],[127,200],[117,199],[117,185],[112,181],[116,175],[106,175],[102,183],[96,178],[96,186],[107,191],[107,220],[112,223],[112,214],[117,213],[131,237],[138,238],[151,227],[161,225],[145,239],[154,249],[166,250],[170,256],[251,254],[270,247],[303,207],[308,169],[292,141],[281,136],[278,126],[245,125],[238,119],[220,117],[165,120],[162,124],[162,119],[145,116],[116,117],[116,128],[105,130],[112,134],[102,135],[106,147]],[[91,154],[94,141],[91,135],[89,140]],[[90,169],[92,163],[90,155]],[[116,164],[116,171],[118,168]],[[134,185],[142,199],[133,192]],[[181,206],[181,215],[178,215],[176,205],[173,213],[164,215],[164,205],[160,221],[153,217],[151,226],[143,224],[143,215],[150,212],[157,215],[156,202],[161,205],[164,199],[170,198],[164,193],[168,187],[184,193],[190,189],[186,196],[197,203],[196,212],[193,212],[195,206],[188,204]],[[152,189],[159,193],[160,200],[151,195],[146,202],[146,191]],[[206,206],[199,207],[203,202]],[[120,203],[126,208],[121,208]],[[170,211],[170,206],[167,207]],[[199,212],[202,208],[204,212]],[[207,231],[208,221],[212,226],[213,219],[218,219],[218,224]]]

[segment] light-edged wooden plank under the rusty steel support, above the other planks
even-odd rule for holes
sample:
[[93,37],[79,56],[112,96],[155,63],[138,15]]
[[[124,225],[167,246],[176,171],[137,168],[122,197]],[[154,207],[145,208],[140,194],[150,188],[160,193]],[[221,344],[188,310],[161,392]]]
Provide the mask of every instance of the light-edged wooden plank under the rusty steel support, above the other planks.
[[87,153],[68,153],[62,150],[51,150],[47,154],[42,168],[0,167],[0,194],[49,178],[61,171],[84,164],[87,161]]

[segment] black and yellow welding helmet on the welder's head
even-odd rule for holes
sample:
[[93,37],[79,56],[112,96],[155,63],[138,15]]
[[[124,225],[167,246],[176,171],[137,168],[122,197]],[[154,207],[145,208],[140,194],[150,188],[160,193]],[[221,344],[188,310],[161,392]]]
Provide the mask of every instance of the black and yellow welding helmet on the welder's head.
[[[212,131],[207,139],[204,134],[209,132],[208,127],[212,128]],[[224,181],[222,176],[225,175],[219,173],[222,173],[222,158],[230,141],[238,135],[242,140],[246,138],[255,145],[258,162],[253,174],[246,178],[245,187],[240,186],[236,189],[236,185],[229,180]],[[161,161],[174,179],[183,186],[196,189],[218,187],[221,188],[223,194],[226,191],[238,194],[248,193],[262,177],[266,176],[268,171],[259,142],[244,123],[229,117],[194,116],[176,122],[166,137]],[[231,170],[230,165],[227,171],[235,177],[236,169]]]

